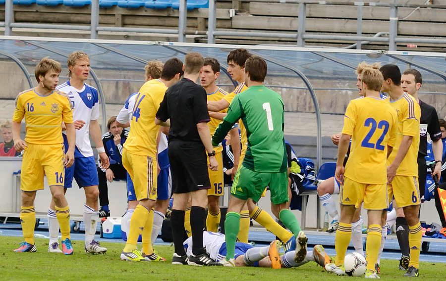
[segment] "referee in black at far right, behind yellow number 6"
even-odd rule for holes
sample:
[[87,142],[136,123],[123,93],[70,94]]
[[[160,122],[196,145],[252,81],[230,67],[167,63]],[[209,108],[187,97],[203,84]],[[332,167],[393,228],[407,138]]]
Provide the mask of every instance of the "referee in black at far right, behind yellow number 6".
[[[426,102],[418,98],[418,90],[421,88],[423,80],[421,78],[421,73],[416,69],[407,69],[401,76],[401,88],[407,94],[412,95],[420,105],[421,108],[421,120],[420,120],[420,147],[418,150],[418,181],[420,187],[420,198],[421,202],[424,201],[424,191],[426,188],[426,158],[427,156],[427,135],[431,137],[433,141],[432,147],[434,150],[435,158],[435,169],[432,172],[432,176],[437,176],[438,179],[441,177],[442,169],[442,155],[443,155],[443,142],[442,142],[442,132],[440,130],[440,124],[438,121],[438,115],[435,108]],[[402,216],[401,216],[402,214]],[[396,236],[398,238],[398,243],[401,248],[402,258],[400,260],[401,267],[406,269],[406,264],[408,267],[409,260],[405,262],[405,256],[409,256],[409,227],[407,226],[407,221],[404,218],[402,211],[398,212],[396,217]]]

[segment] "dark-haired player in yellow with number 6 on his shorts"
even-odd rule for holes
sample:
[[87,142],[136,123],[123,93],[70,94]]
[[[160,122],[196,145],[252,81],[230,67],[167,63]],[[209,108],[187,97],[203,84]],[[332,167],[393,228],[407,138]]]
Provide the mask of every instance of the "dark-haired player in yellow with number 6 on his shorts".
[[[418,276],[421,248],[421,225],[418,218],[420,194],[418,188],[417,156],[420,143],[421,109],[416,99],[401,88],[401,72],[398,66],[386,64],[380,68],[384,76],[382,92],[390,96],[387,102],[398,114],[398,138],[388,159],[388,193],[396,206],[403,208],[409,225],[409,268],[404,276]],[[383,212],[385,223],[387,212]]]

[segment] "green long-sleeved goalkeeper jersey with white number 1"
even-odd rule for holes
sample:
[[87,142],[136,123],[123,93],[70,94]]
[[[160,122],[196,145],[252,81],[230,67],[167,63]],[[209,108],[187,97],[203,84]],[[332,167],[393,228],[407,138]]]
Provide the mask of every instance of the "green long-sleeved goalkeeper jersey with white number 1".
[[224,121],[214,133],[213,143],[220,143],[238,119],[242,120],[248,139],[243,166],[256,172],[285,172],[287,162],[281,96],[265,86],[251,86],[237,94]]

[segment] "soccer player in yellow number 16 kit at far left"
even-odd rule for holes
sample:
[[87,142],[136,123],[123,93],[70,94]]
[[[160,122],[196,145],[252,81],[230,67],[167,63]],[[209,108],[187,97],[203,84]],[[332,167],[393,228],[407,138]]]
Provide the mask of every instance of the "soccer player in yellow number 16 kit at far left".
[[[75,129],[73,112],[68,95],[56,89],[60,63],[43,58],[34,73],[39,85],[20,93],[15,99],[12,117],[14,148],[23,152],[21,185],[22,206],[20,221],[25,242],[15,252],[35,252],[34,225],[36,212],[34,199],[36,191],[44,189],[44,176],[47,177],[53,200],[56,204],[56,217],[62,234],[62,252],[73,253],[70,240],[70,209],[63,192],[65,167],[74,162]],[[20,139],[20,124],[26,122],[25,141]],[[68,150],[64,156],[62,122],[65,123]]]

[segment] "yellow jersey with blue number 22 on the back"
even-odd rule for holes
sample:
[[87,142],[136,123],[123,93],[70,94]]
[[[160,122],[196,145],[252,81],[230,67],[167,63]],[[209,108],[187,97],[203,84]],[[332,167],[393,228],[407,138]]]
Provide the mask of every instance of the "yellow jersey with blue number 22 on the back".
[[345,177],[362,184],[385,184],[387,146],[395,145],[397,133],[396,111],[385,100],[375,97],[351,100],[342,129],[342,134],[352,136]]

